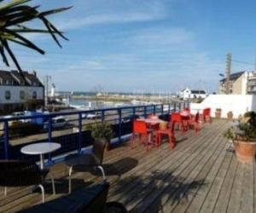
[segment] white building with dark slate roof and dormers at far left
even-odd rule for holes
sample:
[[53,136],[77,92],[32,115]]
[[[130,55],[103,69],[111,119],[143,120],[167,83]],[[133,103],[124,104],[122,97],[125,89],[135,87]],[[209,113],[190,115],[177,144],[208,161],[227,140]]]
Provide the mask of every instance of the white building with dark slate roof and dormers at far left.
[[44,105],[44,85],[36,72],[0,70],[0,112],[22,111]]

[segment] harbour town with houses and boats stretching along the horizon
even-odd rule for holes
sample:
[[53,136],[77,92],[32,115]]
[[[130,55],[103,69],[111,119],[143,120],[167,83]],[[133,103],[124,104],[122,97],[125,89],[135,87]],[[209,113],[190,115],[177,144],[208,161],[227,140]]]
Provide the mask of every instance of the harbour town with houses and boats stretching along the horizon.
[[[207,95],[204,89],[185,88],[176,93],[113,93],[98,89],[94,92],[56,91],[55,84],[44,85],[36,72],[24,72],[26,83],[17,71],[0,71],[0,114],[24,110],[47,109],[60,110],[66,108],[85,107],[76,104],[87,101],[87,108],[91,102],[101,101],[103,104],[111,103],[113,107],[131,104],[169,103],[172,101],[189,100],[201,102]],[[227,92],[227,78],[219,80],[217,94],[252,95],[256,93],[255,72],[235,72],[230,74],[229,89]],[[100,105],[103,106],[103,105]],[[94,104],[94,108],[96,104]]]

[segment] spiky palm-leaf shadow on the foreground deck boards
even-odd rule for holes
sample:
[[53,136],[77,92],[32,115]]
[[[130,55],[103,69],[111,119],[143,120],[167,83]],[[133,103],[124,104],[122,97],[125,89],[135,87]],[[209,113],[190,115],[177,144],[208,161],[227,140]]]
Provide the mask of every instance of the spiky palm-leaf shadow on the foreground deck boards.
[[131,176],[120,179],[113,194],[118,195],[126,206],[132,204],[134,200],[142,199],[143,202],[138,202],[133,209],[136,212],[141,210],[161,212],[166,202],[169,204],[185,202],[189,193],[195,193],[197,188],[206,185],[204,179],[188,181],[182,176],[173,176],[172,172],[154,171],[148,176],[132,176],[132,180]]

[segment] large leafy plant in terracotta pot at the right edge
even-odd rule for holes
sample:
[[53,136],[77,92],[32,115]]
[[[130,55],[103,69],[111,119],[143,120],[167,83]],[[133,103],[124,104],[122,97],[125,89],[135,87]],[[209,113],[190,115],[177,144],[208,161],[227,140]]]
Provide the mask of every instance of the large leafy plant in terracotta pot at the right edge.
[[233,141],[240,162],[252,162],[256,153],[256,113],[245,113],[238,124],[224,132],[224,136]]

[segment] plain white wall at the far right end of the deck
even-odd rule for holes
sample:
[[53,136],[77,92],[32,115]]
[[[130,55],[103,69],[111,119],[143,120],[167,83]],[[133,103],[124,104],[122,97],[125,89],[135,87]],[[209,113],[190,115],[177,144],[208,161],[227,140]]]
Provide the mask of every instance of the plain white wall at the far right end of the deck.
[[233,112],[234,118],[238,118],[247,111],[256,111],[256,95],[209,95],[200,104],[191,103],[190,108],[204,109],[210,107],[212,117],[215,117],[216,108],[221,108],[221,117],[227,118],[229,111]]

